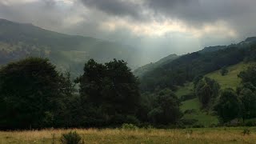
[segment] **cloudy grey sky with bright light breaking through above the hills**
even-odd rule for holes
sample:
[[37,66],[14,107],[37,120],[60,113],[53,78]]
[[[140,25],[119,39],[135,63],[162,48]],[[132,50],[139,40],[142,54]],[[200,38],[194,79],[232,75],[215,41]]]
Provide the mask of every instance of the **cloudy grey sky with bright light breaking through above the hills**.
[[0,18],[122,42],[146,62],[256,36],[255,0],[0,0]]

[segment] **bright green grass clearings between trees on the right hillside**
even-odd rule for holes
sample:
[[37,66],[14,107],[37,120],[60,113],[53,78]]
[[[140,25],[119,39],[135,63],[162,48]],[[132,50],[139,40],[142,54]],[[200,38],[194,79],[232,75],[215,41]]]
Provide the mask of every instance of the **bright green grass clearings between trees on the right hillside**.
[[[215,79],[222,87],[222,89],[225,88],[233,88],[235,89],[241,80],[238,78],[238,74],[242,70],[246,70],[246,67],[250,66],[250,63],[238,63],[234,66],[229,66],[227,69],[229,70],[229,73],[225,76],[222,76],[219,72],[219,70],[216,70],[210,74],[206,74],[206,77]],[[189,94],[190,91],[193,90],[193,83],[187,83],[185,86],[182,86],[178,89],[176,92],[177,96],[180,98],[184,94]],[[198,119],[198,123],[200,125],[204,126],[210,126],[210,124],[217,124],[218,118],[216,116],[212,116],[210,114],[206,114],[206,112],[200,110],[200,102],[198,101],[198,98],[190,99],[185,102],[182,102],[181,110],[196,110],[193,114],[185,114],[184,118],[192,118],[192,119]]]

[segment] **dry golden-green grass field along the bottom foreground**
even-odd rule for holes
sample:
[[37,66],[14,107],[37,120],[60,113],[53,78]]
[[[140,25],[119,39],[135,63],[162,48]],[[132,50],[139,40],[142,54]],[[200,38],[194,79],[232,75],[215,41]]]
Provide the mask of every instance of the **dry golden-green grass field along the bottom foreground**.
[[[248,129],[250,134],[242,134]],[[0,143],[59,143],[70,130],[39,130],[0,132]],[[74,130],[73,130],[74,131]],[[204,128],[190,130],[75,130],[85,143],[252,143],[256,142],[255,127]]]

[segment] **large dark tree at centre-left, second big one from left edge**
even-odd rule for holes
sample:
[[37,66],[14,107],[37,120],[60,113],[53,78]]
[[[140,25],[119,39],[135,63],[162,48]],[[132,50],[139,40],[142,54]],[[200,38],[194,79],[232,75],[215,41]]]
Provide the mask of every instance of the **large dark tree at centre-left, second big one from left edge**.
[[138,78],[126,62],[116,60],[100,64],[90,59],[84,74],[77,79],[85,102],[86,125],[121,124],[136,114],[140,93]]

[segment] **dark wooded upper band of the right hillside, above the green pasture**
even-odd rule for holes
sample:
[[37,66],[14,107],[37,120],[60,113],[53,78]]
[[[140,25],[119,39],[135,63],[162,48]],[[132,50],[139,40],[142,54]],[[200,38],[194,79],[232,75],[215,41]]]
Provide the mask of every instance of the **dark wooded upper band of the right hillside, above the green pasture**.
[[186,54],[144,74],[140,88],[150,92],[164,88],[176,90],[177,86],[192,82],[194,78],[219,70],[223,66],[234,65],[243,60],[254,60],[255,55],[255,44],[245,47],[232,45],[224,50],[209,53]]

